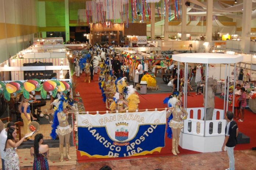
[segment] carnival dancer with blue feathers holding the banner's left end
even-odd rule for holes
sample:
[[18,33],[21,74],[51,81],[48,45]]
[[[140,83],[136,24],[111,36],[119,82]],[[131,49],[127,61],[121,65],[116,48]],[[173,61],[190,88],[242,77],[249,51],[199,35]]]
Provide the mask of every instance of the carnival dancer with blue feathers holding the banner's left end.
[[60,139],[60,162],[63,162],[64,158],[64,152],[63,152],[63,146],[64,146],[64,139],[66,144],[66,157],[71,160],[71,157],[69,156],[69,138],[70,134],[72,132],[72,126],[68,124],[68,111],[71,108],[72,101],[70,98],[66,96],[58,96],[58,99],[56,99],[53,104],[55,106],[54,108],[54,116],[53,116],[53,124],[51,125],[51,134],[50,136],[53,138],[53,140],[56,139],[56,136],[59,136]]

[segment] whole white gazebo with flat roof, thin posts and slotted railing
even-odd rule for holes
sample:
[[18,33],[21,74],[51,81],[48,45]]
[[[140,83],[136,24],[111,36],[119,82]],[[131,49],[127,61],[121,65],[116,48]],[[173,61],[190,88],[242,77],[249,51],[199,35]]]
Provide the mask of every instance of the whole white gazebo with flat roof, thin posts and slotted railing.
[[[230,64],[236,64],[243,61],[243,56],[232,54],[220,54],[220,53],[182,53],[174,54],[173,60],[178,61],[178,69],[180,62],[185,64],[185,73],[188,73],[188,63],[202,63],[206,64],[205,71],[205,96],[207,96],[207,84],[208,84],[208,66],[209,64],[225,64],[225,81],[229,80]],[[228,79],[226,79],[228,77]],[[178,70],[179,81],[179,70]],[[184,109],[188,112],[187,120],[184,120],[184,128],[180,134],[180,146],[184,149],[198,151],[198,152],[217,152],[221,151],[225,137],[226,120],[224,119],[225,110],[228,107],[228,92],[226,94],[226,82],[225,82],[225,95],[224,97],[224,109],[214,109],[212,120],[202,120],[206,117],[206,108],[187,108],[187,76],[185,76],[184,85]],[[235,78],[234,78],[235,85]],[[229,86],[229,83],[227,83]],[[178,87],[179,88],[179,87]],[[229,87],[227,87],[228,89]],[[179,90],[179,89],[178,89]],[[234,100],[234,97],[233,97]],[[234,102],[234,101],[233,101]],[[207,100],[205,101],[205,106]],[[192,111],[191,111],[192,110]],[[198,119],[198,113],[201,111],[201,120]],[[190,113],[193,112],[193,117],[190,117]],[[234,112],[234,107],[233,107]],[[219,114],[219,116],[217,116]],[[219,119],[217,119],[219,117]],[[210,125],[213,127],[210,131]]]

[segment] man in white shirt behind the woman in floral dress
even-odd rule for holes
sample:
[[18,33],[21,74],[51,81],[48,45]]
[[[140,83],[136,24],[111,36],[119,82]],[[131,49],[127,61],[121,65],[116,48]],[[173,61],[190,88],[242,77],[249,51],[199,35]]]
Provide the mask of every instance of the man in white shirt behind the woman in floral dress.
[[2,169],[3,170],[5,170],[5,168],[4,168],[4,157],[6,156],[6,152],[4,151],[4,148],[6,146],[7,131],[8,131],[9,128],[16,129],[16,125],[14,124],[14,122],[9,122],[7,124],[7,128],[3,129],[0,133],[0,153],[1,153]]

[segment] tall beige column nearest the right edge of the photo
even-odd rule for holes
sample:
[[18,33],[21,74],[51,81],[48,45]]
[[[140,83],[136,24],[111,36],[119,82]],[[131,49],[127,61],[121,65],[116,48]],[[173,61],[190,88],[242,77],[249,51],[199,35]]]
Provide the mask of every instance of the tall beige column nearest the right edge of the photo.
[[242,40],[241,50],[243,53],[250,53],[250,27],[252,20],[252,0],[244,1],[244,10],[242,18]]

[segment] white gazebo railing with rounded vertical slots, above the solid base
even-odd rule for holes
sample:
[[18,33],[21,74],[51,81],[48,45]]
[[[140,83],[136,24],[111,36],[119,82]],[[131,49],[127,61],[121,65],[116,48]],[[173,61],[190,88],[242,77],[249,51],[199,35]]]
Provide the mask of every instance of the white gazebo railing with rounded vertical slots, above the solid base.
[[[190,113],[192,110],[192,117]],[[195,136],[223,136],[227,121],[224,120],[224,112],[220,109],[214,109],[212,120],[204,121],[204,108],[187,108],[188,118],[184,120],[183,133]],[[201,113],[200,113],[201,112]],[[200,119],[199,119],[200,116]],[[204,135],[205,128],[205,135]]]

